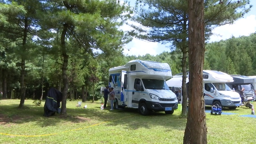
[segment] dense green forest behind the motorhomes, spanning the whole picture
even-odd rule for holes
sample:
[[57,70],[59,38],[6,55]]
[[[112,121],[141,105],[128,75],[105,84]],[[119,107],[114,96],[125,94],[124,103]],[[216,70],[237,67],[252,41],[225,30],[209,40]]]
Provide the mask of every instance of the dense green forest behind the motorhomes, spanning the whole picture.
[[[172,75],[182,72],[182,52],[173,46],[156,55],[124,53],[124,45],[132,41],[134,33],[118,27],[131,17],[132,10],[126,3],[113,2],[95,1],[92,7],[79,7],[72,1],[17,0],[12,3],[15,7],[4,5],[0,17],[0,91],[4,95],[0,99],[21,99],[24,94],[25,99],[39,100],[51,87],[63,91],[63,69],[67,100],[83,101],[100,99],[100,87],[108,84],[108,69],[130,60],[166,62]],[[255,32],[208,42],[205,48],[205,70],[256,75]]]

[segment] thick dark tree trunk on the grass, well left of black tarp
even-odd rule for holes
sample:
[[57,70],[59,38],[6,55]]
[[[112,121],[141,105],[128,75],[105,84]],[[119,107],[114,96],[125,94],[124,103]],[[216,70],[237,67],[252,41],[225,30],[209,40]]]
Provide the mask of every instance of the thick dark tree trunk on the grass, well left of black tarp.
[[[28,18],[25,17],[24,20],[24,30],[23,30],[23,40],[22,40],[22,50],[26,51],[26,41],[28,33]],[[25,102],[25,56],[21,56],[21,71],[20,71],[20,105],[19,108],[23,108]]]

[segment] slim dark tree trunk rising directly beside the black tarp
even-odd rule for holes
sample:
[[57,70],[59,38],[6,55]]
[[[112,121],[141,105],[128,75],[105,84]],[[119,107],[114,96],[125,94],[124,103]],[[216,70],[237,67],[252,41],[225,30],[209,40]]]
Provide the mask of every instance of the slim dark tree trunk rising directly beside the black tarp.
[[61,51],[63,56],[63,64],[62,64],[62,81],[63,81],[63,89],[62,89],[62,100],[61,100],[61,114],[67,113],[67,94],[68,94],[68,77],[67,77],[67,66],[68,66],[68,54],[66,50],[65,37],[68,31],[68,25],[63,25],[63,30],[61,33]]

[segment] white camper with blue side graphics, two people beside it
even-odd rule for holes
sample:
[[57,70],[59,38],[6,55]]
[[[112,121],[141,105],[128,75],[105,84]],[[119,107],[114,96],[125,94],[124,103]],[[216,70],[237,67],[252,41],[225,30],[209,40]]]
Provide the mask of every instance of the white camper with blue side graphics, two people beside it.
[[176,95],[165,83],[172,77],[167,63],[131,60],[124,66],[109,69],[109,87],[115,91],[115,108],[139,108],[141,115],[149,111],[172,114],[178,108]]

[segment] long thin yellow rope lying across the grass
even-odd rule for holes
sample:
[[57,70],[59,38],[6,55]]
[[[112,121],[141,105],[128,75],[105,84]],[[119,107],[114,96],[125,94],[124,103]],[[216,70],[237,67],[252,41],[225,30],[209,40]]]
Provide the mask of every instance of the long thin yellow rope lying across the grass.
[[[134,115],[131,115],[131,116],[134,116]],[[125,116],[125,117],[129,117],[129,116]],[[93,124],[93,125],[90,125],[90,126],[87,126],[87,127],[79,128],[79,129],[68,130],[68,131],[64,131],[64,132],[77,131],[77,130],[81,130],[81,129],[84,129],[84,128],[88,128],[88,127],[92,127],[92,126],[96,126],[96,125],[100,125],[100,124],[104,124],[104,123],[108,123],[108,122],[114,122],[114,121],[123,119],[125,117],[122,117],[122,118],[119,118],[119,119],[116,119],[116,120],[112,120],[112,121],[106,121],[106,122],[101,122],[101,123],[98,123],[98,124]],[[59,132],[59,133],[63,133],[63,132]],[[16,134],[7,134],[7,133],[0,133],[0,134],[9,135],[9,136],[20,136],[20,137],[41,137],[41,136],[55,135],[55,134],[59,134],[59,133],[51,133],[51,134],[43,134],[43,135],[16,135]]]

